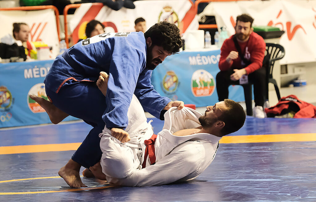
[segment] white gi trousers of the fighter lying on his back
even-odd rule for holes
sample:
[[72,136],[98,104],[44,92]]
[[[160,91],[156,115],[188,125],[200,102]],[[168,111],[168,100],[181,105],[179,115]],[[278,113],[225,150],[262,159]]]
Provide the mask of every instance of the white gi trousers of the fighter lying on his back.
[[123,144],[111,136],[111,131],[104,128],[99,135],[100,148],[103,152],[100,164],[102,172],[112,178],[124,178],[135,170],[141,169],[146,145],[144,140],[153,134],[150,122],[147,123],[143,107],[133,95],[128,113],[128,126],[125,131],[129,133],[131,141]]

